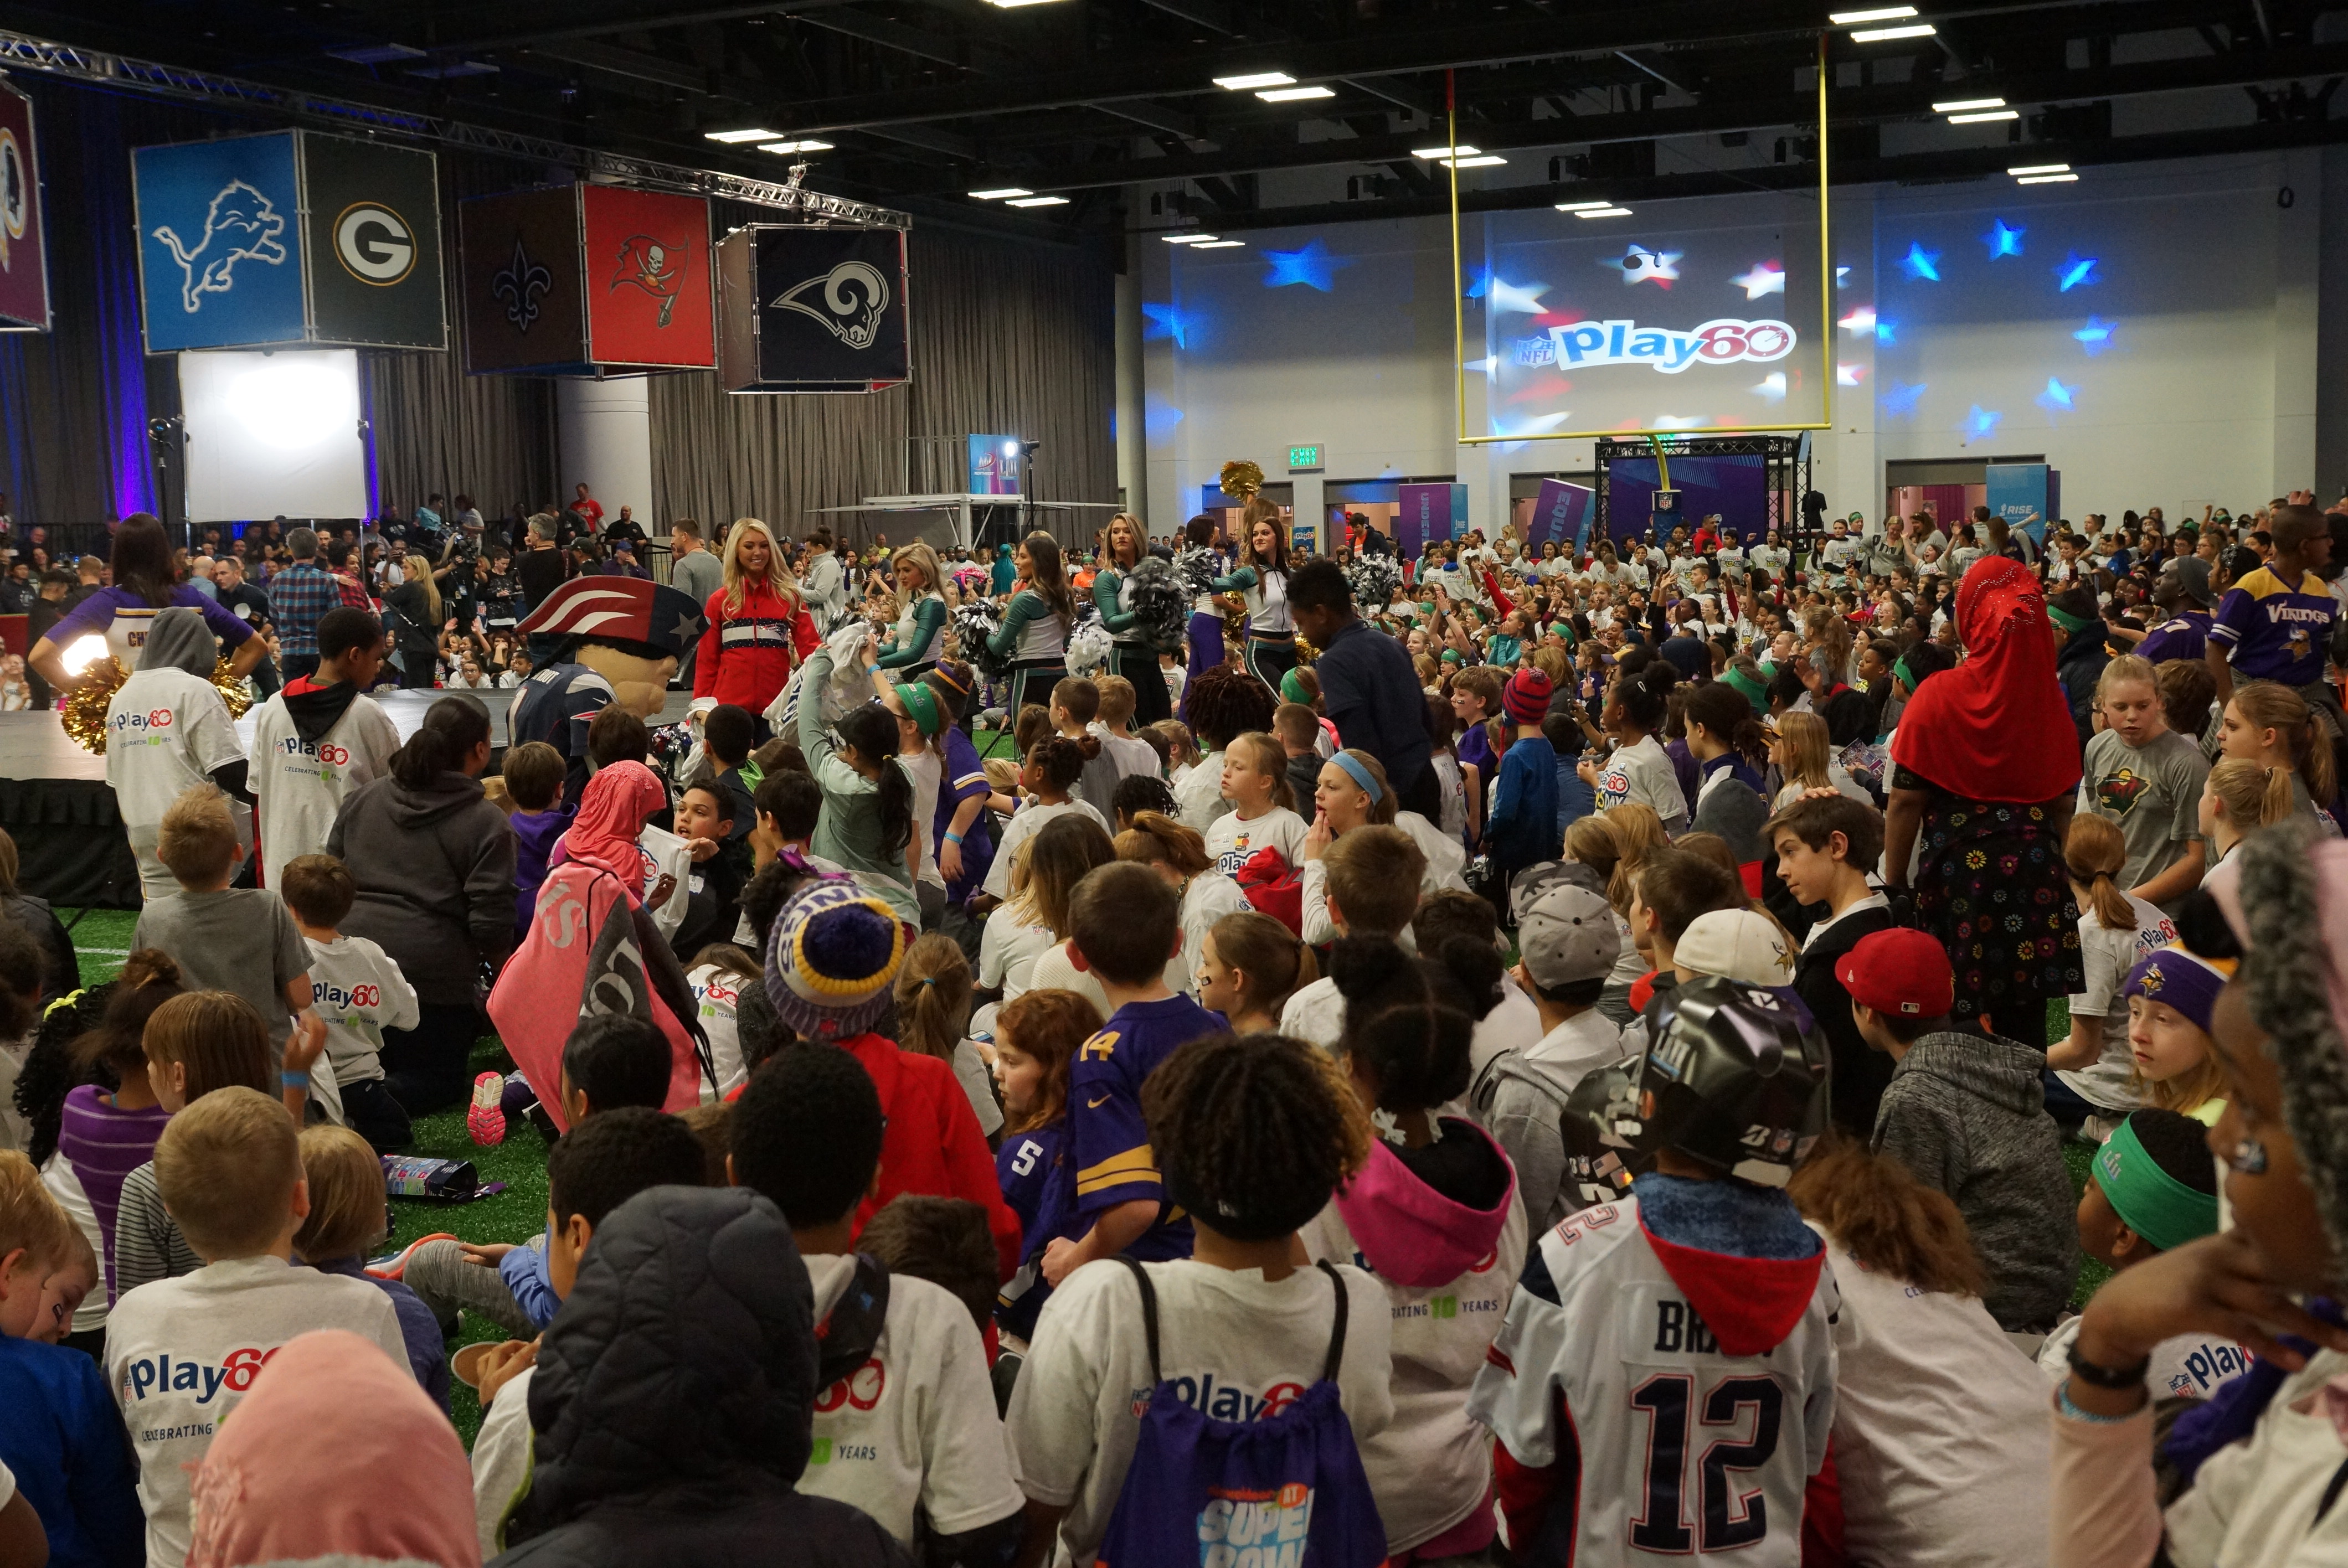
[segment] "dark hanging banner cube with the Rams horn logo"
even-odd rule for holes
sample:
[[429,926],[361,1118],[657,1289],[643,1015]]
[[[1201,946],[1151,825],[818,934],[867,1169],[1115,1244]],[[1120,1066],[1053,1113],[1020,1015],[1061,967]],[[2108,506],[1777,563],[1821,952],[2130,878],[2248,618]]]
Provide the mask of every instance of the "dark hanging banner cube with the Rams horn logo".
[[730,392],[880,392],[913,376],[904,230],[754,223],[718,242]]

